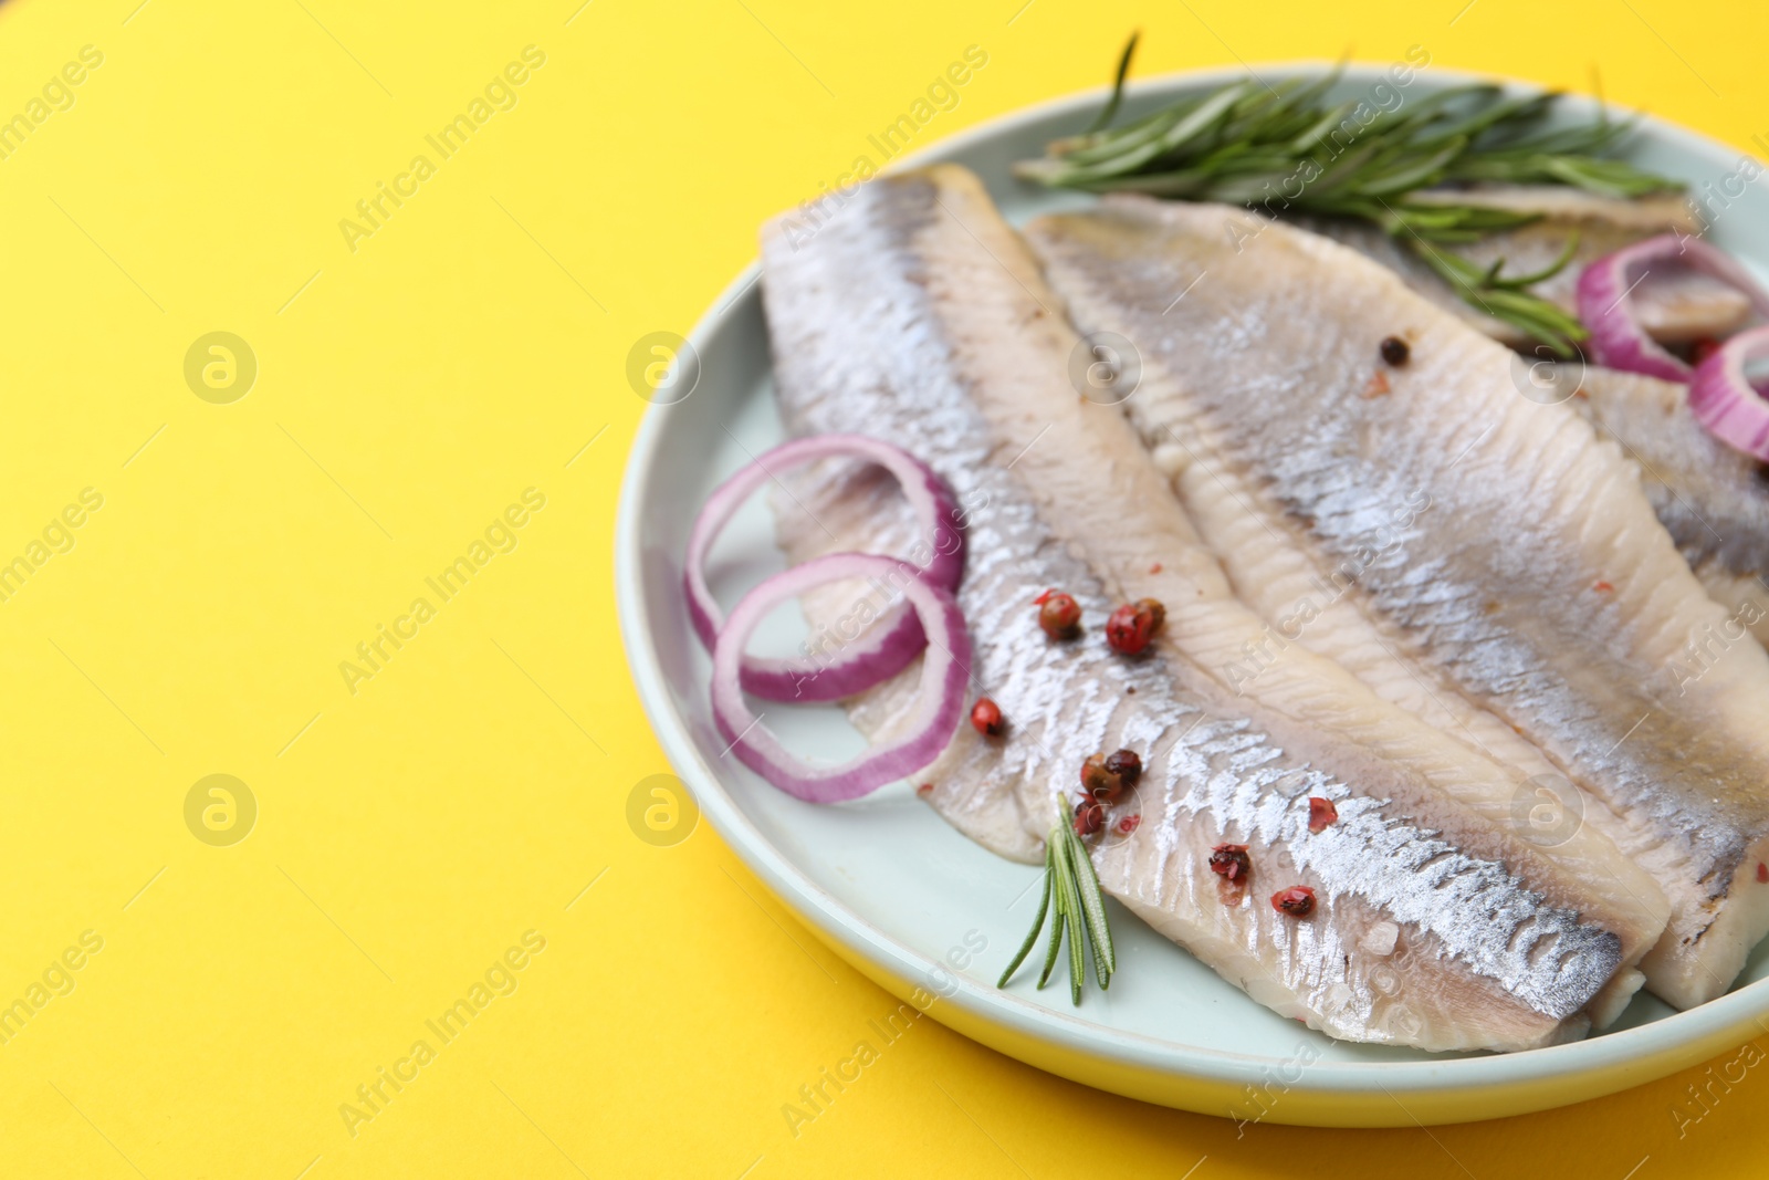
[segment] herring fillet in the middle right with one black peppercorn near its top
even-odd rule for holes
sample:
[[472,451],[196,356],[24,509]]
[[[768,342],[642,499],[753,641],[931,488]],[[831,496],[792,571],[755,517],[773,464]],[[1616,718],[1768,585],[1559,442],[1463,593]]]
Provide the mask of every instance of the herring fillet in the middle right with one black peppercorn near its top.
[[[1268,533],[1343,579],[1366,633],[1270,601],[1267,617],[1516,727],[1665,886],[1649,987],[1679,1007],[1727,991],[1769,929],[1769,658],[1737,644],[1693,681],[1673,672],[1725,612],[1619,449],[1521,396],[1502,345],[1323,237],[1130,196],[1026,232],[1077,324],[1136,341],[1145,442],[1187,448],[1233,492],[1198,513],[1217,552],[1233,566],[1231,536]],[[1406,366],[1382,364],[1385,336],[1410,341]],[[1383,533],[1421,492],[1429,518]]]

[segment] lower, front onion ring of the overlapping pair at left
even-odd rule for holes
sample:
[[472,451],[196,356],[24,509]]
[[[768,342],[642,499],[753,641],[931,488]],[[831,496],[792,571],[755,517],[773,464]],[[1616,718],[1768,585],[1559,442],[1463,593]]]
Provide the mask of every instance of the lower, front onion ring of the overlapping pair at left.
[[915,716],[902,736],[839,766],[812,766],[782,747],[743,699],[743,646],[770,610],[817,586],[842,579],[900,577],[902,568],[904,563],[895,557],[872,554],[830,554],[793,566],[745,594],[713,644],[713,724],[738,761],[791,796],[808,803],[860,798],[932,762],[959,729],[971,639],[952,594],[918,577],[904,577],[902,593],[934,642],[927,646]]

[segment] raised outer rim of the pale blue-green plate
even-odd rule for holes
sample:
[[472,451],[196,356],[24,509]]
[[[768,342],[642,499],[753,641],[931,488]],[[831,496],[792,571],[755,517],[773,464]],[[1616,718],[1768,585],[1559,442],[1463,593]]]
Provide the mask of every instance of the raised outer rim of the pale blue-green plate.
[[[1127,85],[1127,97],[1159,97],[1214,81],[1245,78],[1249,73],[1261,78],[1288,78],[1334,67],[1343,69],[1343,78],[1350,81],[1369,81],[1371,85],[1387,78],[1389,71],[1389,65],[1373,62],[1336,64],[1320,58],[1261,62],[1249,67],[1224,65],[1141,78]],[[1546,90],[1537,83],[1498,74],[1438,69],[1429,64],[1417,67],[1417,74],[1445,85],[1491,83],[1518,92]],[[1109,94],[1109,87],[1093,87],[1015,108],[918,149],[893,161],[884,172],[902,172],[953,159],[1026,124],[1084,113],[1104,101],[1106,94]],[[1721,170],[1739,159],[1755,159],[1748,152],[1702,133],[1654,115],[1599,103],[1585,94],[1564,94],[1560,101],[1569,110],[1583,113],[1604,110],[1612,115],[1631,117],[1649,134],[1675,142],[1677,147],[1707,157]],[[713,336],[739,311],[739,304],[761,299],[755,288],[759,276],[761,262],[754,260],[713,299],[686,336],[697,356],[704,354]],[[899,1000],[909,1000],[920,989],[915,980],[932,980],[936,971],[943,969],[939,961],[895,941],[884,931],[849,911],[782,854],[748,819],[725,791],[720,777],[701,757],[686,718],[674,708],[662,660],[649,639],[653,610],[644,596],[640,538],[642,494],[660,467],[658,456],[667,439],[667,409],[669,405],[653,403],[642,414],[626,456],[616,510],[616,610],[640,704],[670,764],[693,791],[701,812],[718,830],[732,853],[851,966]],[[941,978],[948,980],[946,987],[952,987],[953,973],[945,973]],[[1180,1046],[1159,1037],[1104,1028],[1083,1017],[1033,1005],[1014,992],[998,991],[962,975],[955,978],[957,985],[950,994],[936,996],[923,1008],[929,1015],[955,1024],[962,1035],[1038,1069],[1129,1097],[1214,1113],[1201,1107],[1203,1093],[1208,1092],[1217,1099],[1238,1097],[1242,1086],[1268,1084],[1272,1067],[1286,1063],[1263,1054]],[[1247,1003],[1254,1001],[1247,1000]],[[1389,1127],[1474,1122],[1553,1109],[1645,1084],[1677,1069],[1705,1061],[1716,1053],[1748,1040],[1748,1030],[1753,1026],[1760,1031],[1758,1017],[1765,1014],[1769,1014],[1769,978],[1636,1028],[1541,1049],[1424,1061],[1316,1060],[1307,1065],[1298,1081],[1288,1083],[1286,1079],[1281,1093],[1291,1102],[1279,1104],[1267,1120],[1336,1127]],[[1527,1092],[1512,1095],[1511,1100],[1504,1099],[1505,1092],[1520,1086],[1527,1086]],[[1392,1090],[1406,1092],[1415,1104],[1401,1104]],[[1489,1109],[1475,1113],[1472,1118],[1452,1109],[1454,1100],[1475,1095],[1484,1097],[1484,1106]],[[1355,1104],[1376,1099],[1389,1099],[1396,1107],[1392,1115],[1371,1116],[1369,1111],[1357,1113],[1346,1107],[1348,1100]]]

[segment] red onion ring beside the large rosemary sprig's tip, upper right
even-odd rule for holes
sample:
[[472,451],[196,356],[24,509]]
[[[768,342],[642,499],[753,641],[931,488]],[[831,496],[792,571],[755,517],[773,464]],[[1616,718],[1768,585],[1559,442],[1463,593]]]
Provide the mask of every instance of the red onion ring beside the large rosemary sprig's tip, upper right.
[[1732,257],[1696,237],[1663,234],[1597,258],[1578,276],[1578,318],[1590,329],[1590,359],[1606,368],[1663,380],[1689,380],[1691,368],[1647,336],[1633,310],[1633,288],[1658,264],[1711,274],[1750,295],[1769,318],[1769,292]]

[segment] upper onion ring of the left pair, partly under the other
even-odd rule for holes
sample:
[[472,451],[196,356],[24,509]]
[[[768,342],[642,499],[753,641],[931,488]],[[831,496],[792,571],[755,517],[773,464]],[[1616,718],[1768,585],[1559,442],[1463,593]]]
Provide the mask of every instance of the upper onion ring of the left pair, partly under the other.
[[[964,533],[957,527],[959,506],[952,492],[934,474],[932,467],[902,448],[865,435],[828,433],[794,439],[764,453],[754,464],[718,485],[708,497],[701,515],[688,533],[686,570],[683,584],[688,594],[688,619],[701,642],[711,649],[725,616],[706,586],[706,556],[713,541],[759,487],[793,467],[819,458],[863,458],[890,471],[915,510],[916,536],[932,548],[925,566],[892,559],[897,568],[909,568],[934,586],[948,591],[959,587],[964,577]],[[741,683],[745,692],[768,701],[840,701],[856,692],[890,679],[927,646],[922,621],[902,603],[881,616],[865,635],[847,644],[831,663],[814,660],[778,660],[770,656],[743,656]]]

